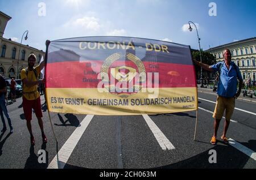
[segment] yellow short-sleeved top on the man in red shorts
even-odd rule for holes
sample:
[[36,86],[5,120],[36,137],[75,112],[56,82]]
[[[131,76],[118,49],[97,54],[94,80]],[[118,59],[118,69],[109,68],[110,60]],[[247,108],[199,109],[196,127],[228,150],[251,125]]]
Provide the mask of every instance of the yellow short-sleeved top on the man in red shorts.
[[[35,67],[36,73],[38,74],[38,77],[40,75],[40,68],[39,66]],[[26,74],[26,70],[23,68],[23,70],[20,72],[20,76],[21,76],[21,80],[26,79],[29,82],[35,82],[36,76],[35,76],[35,72],[32,70],[30,71],[29,69],[27,69],[28,73]],[[23,84],[23,96],[27,99],[27,100],[36,100],[40,95],[38,92],[38,85],[33,85],[31,87],[27,87],[26,84]]]

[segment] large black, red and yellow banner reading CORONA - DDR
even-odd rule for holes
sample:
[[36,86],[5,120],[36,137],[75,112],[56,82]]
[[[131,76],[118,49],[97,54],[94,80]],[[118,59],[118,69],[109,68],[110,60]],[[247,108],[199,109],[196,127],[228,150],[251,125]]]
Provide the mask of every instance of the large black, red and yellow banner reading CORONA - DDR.
[[189,46],[134,37],[51,41],[48,109],[97,115],[196,110],[195,77]]

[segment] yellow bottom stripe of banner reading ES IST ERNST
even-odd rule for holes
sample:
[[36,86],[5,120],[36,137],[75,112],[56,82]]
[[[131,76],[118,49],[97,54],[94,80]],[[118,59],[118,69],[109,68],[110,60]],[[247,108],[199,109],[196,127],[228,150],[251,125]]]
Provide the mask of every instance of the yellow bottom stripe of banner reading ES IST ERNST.
[[[102,90],[102,89],[100,89]],[[197,110],[197,89],[158,88],[120,97],[97,88],[46,88],[49,112],[135,115]]]

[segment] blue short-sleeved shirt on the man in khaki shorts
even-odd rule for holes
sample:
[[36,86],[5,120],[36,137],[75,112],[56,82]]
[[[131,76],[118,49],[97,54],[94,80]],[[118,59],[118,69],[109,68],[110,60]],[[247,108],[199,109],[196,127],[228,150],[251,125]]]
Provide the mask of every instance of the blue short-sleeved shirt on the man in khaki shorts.
[[228,70],[224,61],[218,62],[217,64],[210,67],[213,68],[214,72],[221,72],[220,82],[218,82],[217,94],[223,97],[234,97],[234,95],[237,93],[237,79],[242,80],[242,75],[239,68],[235,65],[234,62],[230,62],[230,67]]

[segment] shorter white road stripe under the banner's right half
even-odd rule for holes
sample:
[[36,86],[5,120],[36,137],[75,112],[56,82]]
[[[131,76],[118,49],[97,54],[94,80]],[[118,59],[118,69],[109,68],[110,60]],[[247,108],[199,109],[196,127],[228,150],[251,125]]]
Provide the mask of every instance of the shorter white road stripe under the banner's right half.
[[156,126],[156,124],[152,121],[152,119],[147,114],[142,114],[145,119],[147,125],[150,127],[150,130],[153,132],[155,139],[158,141],[160,147],[163,150],[171,150],[175,149],[174,145],[166,138],[163,132]]

